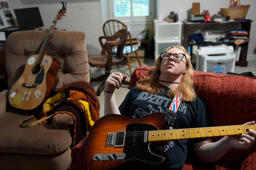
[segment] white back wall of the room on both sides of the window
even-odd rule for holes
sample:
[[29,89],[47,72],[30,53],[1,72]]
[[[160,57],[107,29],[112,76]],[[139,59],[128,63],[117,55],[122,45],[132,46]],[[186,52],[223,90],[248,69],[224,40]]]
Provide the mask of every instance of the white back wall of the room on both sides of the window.
[[[88,54],[95,54],[101,51],[98,37],[103,35],[102,25],[107,16],[102,14],[103,11],[107,11],[106,3],[101,3],[102,0],[67,0],[67,14],[64,19],[58,21],[56,27],[58,29],[66,29],[67,31],[82,31],[86,35],[86,45]],[[155,1],[155,0],[152,0]],[[13,9],[27,8],[27,7],[39,7],[42,15],[44,28],[49,28],[53,17],[57,11],[61,8],[61,3],[58,0],[8,0],[11,12],[14,15]],[[188,0],[157,0],[155,11],[158,19],[162,20],[169,15],[170,11],[178,13],[179,21],[187,19],[187,11],[192,8],[192,2]],[[227,7],[229,0],[197,0],[200,2],[200,11],[208,9],[210,15],[217,14],[221,7]],[[247,13],[247,18],[255,20],[256,17],[256,1],[247,0],[242,1],[250,4],[250,9]],[[153,35],[152,23],[140,23],[140,24],[128,24],[133,35],[138,34],[145,27],[149,28],[149,35]],[[251,23],[251,41],[249,42],[248,56],[247,58],[256,59],[256,20]]]

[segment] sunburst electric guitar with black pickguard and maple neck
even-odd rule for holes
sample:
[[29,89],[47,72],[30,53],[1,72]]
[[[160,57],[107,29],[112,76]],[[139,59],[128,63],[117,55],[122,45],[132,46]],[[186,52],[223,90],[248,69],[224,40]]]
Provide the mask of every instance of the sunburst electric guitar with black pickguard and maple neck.
[[254,124],[162,130],[165,122],[163,113],[151,113],[141,118],[118,114],[101,117],[84,142],[86,168],[112,169],[131,160],[157,165],[163,163],[165,157],[151,150],[152,142],[249,134],[246,129],[256,129]]

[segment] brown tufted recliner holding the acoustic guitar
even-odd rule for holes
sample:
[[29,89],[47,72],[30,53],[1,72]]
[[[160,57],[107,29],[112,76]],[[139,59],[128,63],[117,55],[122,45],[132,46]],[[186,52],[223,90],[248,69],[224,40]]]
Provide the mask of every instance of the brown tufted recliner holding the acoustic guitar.
[[[14,32],[7,38],[9,89],[23,73],[27,58],[39,53],[46,33],[46,30]],[[78,80],[90,82],[83,32],[54,30],[47,54],[60,64],[57,87]],[[73,117],[57,114],[53,123],[23,128],[21,122],[31,117],[31,113],[11,107],[8,95],[9,90],[0,92],[0,169],[68,169],[72,161],[68,130]]]

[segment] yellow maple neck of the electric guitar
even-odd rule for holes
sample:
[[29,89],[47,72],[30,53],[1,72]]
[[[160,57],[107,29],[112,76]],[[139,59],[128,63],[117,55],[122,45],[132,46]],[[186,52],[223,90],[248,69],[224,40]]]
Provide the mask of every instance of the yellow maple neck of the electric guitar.
[[256,129],[254,125],[231,125],[231,126],[215,126],[207,128],[187,128],[187,129],[170,129],[170,130],[151,130],[147,131],[148,141],[166,142],[178,139],[218,137],[226,135],[238,135],[246,133],[246,129]]

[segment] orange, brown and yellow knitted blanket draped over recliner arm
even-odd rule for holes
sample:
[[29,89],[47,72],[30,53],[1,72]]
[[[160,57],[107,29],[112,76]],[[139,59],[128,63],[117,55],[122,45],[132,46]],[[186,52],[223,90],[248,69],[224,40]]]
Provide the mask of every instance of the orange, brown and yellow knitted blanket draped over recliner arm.
[[[69,98],[54,107],[64,97],[61,92],[57,93],[44,103],[40,116],[34,119],[43,118],[52,113],[54,113],[53,116],[63,113],[70,114],[74,120],[74,130],[71,134],[73,146],[75,146],[89,133],[93,123],[99,119],[99,101],[94,88],[84,81],[66,84],[56,89],[57,92],[63,90],[69,90]],[[40,124],[46,123],[47,121],[44,121]]]

